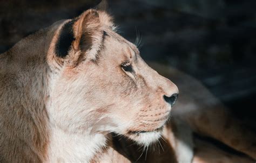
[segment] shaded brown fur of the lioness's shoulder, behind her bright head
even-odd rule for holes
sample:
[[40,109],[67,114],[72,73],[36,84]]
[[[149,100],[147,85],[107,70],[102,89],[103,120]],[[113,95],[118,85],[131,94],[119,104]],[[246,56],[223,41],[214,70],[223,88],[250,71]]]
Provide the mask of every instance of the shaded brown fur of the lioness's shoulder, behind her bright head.
[[[1,54],[0,162],[40,162],[47,157],[48,65],[43,54],[53,33],[45,36],[45,32],[41,30]],[[33,46],[28,48],[31,41]]]

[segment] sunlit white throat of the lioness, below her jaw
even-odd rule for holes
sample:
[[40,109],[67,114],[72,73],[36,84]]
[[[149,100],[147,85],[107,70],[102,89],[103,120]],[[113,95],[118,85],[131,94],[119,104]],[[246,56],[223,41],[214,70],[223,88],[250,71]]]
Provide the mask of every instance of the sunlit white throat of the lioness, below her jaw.
[[68,133],[54,127],[49,145],[50,162],[90,162],[106,144],[104,134]]

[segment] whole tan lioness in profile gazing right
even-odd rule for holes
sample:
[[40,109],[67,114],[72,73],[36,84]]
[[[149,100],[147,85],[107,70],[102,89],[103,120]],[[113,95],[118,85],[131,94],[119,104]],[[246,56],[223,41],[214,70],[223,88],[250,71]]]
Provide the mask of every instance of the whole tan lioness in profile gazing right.
[[[192,131],[184,122],[255,157],[254,146],[232,145],[230,139],[215,134],[219,125],[200,123],[213,114],[191,118],[189,111],[176,112],[176,125],[165,125],[178,88],[147,66],[137,47],[114,29],[106,12],[90,9],[26,37],[0,55],[0,162],[131,162],[133,156],[140,158],[134,148],[129,149],[133,143],[122,146],[126,140],[116,140],[110,132],[144,147],[163,134],[170,146],[164,146],[165,153],[159,155],[151,152],[147,161],[190,162]],[[180,107],[194,111],[186,103]]]

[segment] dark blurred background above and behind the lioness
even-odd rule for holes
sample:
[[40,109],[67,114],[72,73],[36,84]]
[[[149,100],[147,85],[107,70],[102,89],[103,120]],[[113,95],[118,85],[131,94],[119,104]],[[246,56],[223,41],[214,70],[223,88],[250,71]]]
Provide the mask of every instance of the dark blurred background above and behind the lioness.
[[[98,2],[0,0],[0,53]],[[255,122],[255,0],[110,0],[109,12],[122,36],[138,38],[146,61],[196,77],[235,116]]]

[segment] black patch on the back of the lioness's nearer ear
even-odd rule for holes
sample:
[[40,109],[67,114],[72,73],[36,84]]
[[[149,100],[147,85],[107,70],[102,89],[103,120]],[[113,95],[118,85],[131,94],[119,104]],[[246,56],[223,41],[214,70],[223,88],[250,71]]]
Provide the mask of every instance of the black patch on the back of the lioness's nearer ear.
[[74,20],[66,23],[59,34],[59,38],[55,45],[55,52],[57,56],[64,58],[68,55],[69,49],[71,47],[72,42],[75,40],[75,36],[73,33],[73,24]]

